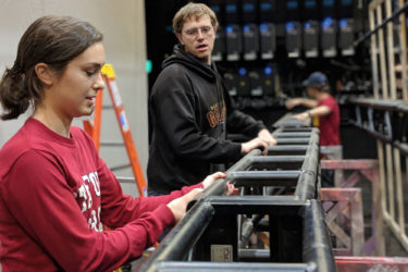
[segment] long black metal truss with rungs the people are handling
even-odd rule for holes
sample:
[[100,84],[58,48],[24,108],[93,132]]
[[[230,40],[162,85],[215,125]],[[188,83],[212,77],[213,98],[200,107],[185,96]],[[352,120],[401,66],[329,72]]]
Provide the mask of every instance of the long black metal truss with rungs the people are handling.
[[[231,166],[137,271],[336,271],[318,200],[319,131],[285,116],[273,135],[268,156]],[[226,182],[238,196],[223,196]],[[254,232],[269,233],[269,249],[245,247]]]

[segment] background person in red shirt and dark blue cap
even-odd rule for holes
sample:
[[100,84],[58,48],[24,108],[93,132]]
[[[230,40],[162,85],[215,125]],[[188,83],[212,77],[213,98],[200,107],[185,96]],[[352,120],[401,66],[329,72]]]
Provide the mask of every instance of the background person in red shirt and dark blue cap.
[[[295,118],[305,120],[310,118],[313,125],[320,129],[320,153],[325,159],[342,159],[342,143],[339,138],[339,107],[330,95],[327,77],[322,72],[313,72],[304,81],[310,98],[293,98],[286,101],[286,108],[304,106],[309,110],[296,114]],[[332,175],[332,173],[331,173]],[[322,173],[323,180],[323,173]],[[333,178],[327,185],[332,185]],[[322,185],[325,184],[322,181]]]

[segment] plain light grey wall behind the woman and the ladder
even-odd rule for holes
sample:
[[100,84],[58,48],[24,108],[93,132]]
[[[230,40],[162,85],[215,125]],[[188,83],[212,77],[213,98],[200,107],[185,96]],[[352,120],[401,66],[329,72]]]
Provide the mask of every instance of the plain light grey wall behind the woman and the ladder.
[[[106,60],[112,63],[129,121],[133,138],[146,170],[148,158],[147,75],[145,72],[146,38],[143,0],[0,0],[0,73],[15,59],[21,36],[37,17],[48,14],[71,15],[90,22],[104,35]],[[104,96],[104,103],[109,102]],[[102,116],[101,140],[121,141],[113,110]],[[18,129],[29,113],[13,121],[0,121],[0,147]],[[81,121],[75,125],[82,126]],[[126,163],[123,147],[104,147],[101,157],[109,166]],[[146,173],[146,171],[145,171]],[[116,175],[131,176],[131,169],[116,171]],[[146,174],[145,174],[146,176]],[[136,194],[136,186],[125,186]]]

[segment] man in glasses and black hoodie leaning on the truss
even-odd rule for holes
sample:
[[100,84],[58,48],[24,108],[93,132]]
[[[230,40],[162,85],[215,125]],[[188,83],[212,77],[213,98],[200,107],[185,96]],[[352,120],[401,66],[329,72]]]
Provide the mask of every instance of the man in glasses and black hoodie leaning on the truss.
[[[163,62],[149,99],[152,141],[147,169],[149,194],[162,195],[222,170],[255,148],[267,152],[275,139],[261,122],[231,110],[222,78],[211,61],[218,21],[201,3],[188,3],[173,18],[180,41]],[[228,110],[226,110],[228,109]],[[256,137],[244,144],[226,131]]]

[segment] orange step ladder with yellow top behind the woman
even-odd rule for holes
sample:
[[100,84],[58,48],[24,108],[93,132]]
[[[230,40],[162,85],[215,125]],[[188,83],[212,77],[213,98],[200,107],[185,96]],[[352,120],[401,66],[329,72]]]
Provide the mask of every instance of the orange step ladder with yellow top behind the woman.
[[[102,77],[109,90],[109,96],[112,100],[119,128],[122,133],[123,141],[126,147],[127,156],[131,162],[132,171],[135,176],[135,182],[139,191],[139,196],[147,196],[146,181],[140,168],[139,159],[133,143],[131,128],[126,118],[125,109],[122,103],[121,94],[116,84],[116,76],[111,64],[104,64],[102,67]],[[100,127],[102,121],[102,97],[103,91],[99,90],[95,101],[94,124],[89,121],[84,121],[84,129],[90,135],[94,140],[95,147],[99,152],[100,148]]]

